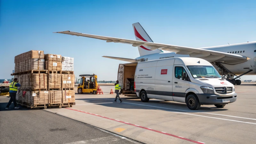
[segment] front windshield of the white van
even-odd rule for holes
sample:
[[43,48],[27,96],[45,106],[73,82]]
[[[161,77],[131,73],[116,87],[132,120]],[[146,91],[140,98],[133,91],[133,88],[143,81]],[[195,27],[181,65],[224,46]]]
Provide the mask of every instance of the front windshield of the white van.
[[213,66],[187,66],[194,78],[220,78],[220,74]]

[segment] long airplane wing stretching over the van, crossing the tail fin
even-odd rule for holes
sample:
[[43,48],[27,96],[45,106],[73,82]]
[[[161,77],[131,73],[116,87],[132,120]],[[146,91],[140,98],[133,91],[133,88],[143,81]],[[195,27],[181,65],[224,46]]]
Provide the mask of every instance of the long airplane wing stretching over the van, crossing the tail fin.
[[150,48],[151,50],[162,49],[165,51],[176,52],[177,54],[185,54],[185,55],[190,55],[190,57],[201,58],[209,62],[225,61],[226,63],[229,63],[229,64],[235,64],[235,63],[244,62],[250,59],[238,54],[217,52],[217,51],[170,45],[170,44],[159,44],[159,43],[129,40],[129,39],[123,39],[123,38],[108,37],[108,36],[97,36],[97,35],[83,34],[83,33],[72,32],[72,31],[62,31],[62,32],[54,32],[54,33],[96,38],[96,39],[105,40],[106,42],[132,44],[133,47],[148,46],[148,47],[151,47]]

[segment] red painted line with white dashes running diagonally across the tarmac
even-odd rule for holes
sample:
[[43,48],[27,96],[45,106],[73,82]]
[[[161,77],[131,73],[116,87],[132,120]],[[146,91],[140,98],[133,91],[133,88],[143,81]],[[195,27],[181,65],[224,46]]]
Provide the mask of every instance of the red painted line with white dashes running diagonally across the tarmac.
[[191,142],[198,143],[198,144],[204,144],[203,142],[198,142],[198,141],[194,141],[194,140],[189,140],[189,139],[186,139],[186,138],[183,138],[183,137],[179,137],[179,136],[176,136],[176,135],[173,135],[173,134],[170,134],[170,133],[160,132],[160,131],[153,130],[153,129],[149,129],[149,128],[146,128],[146,127],[143,127],[143,126],[139,126],[139,125],[130,124],[130,123],[127,123],[127,122],[115,120],[115,119],[113,119],[113,118],[108,118],[108,117],[105,117],[105,116],[100,116],[100,115],[96,115],[96,114],[92,114],[92,113],[88,113],[88,112],[84,112],[84,111],[76,110],[76,109],[72,109],[72,108],[67,108],[67,109],[75,110],[75,111],[82,112],[82,113],[86,113],[86,114],[93,115],[93,116],[99,116],[99,117],[106,118],[106,119],[110,119],[110,120],[113,120],[113,121],[116,121],[116,122],[119,122],[119,123],[123,123],[123,124],[128,124],[128,125],[140,127],[140,128],[143,128],[143,129],[146,129],[146,130],[149,130],[149,131],[162,133],[162,134],[169,135],[169,136],[172,136],[172,137],[175,137],[175,138],[178,138],[178,139],[187,140],[187,141],[191,141]]

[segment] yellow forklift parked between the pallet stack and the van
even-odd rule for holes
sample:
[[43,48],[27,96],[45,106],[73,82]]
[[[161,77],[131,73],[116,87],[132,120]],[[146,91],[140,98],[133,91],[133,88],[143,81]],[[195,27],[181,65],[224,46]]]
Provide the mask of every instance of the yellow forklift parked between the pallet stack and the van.
[[78,84],[77,92],[79,94],[82,93],[97,93],[97,75],[79,75],[80,78],[80,84]]

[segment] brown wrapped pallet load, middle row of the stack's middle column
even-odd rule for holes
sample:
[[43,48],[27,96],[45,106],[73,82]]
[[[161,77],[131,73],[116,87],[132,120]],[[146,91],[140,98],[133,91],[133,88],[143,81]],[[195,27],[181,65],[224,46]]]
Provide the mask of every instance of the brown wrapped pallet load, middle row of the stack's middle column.
[[48,74],[48,88],[61,88],[61,74]]

